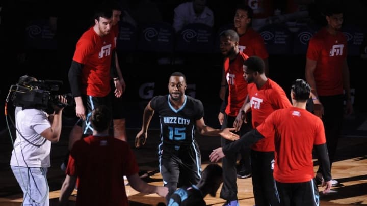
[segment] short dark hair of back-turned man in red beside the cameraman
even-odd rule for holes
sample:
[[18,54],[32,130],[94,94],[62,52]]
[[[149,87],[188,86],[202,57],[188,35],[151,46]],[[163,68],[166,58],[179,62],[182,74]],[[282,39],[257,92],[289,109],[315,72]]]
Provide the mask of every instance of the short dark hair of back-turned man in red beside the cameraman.
[[90,121],[92,123],[93,129],[97,132],[103,132],[108,129],[111,125],[112,113],[108,106],[98,105],[92,111],[92,116]]

